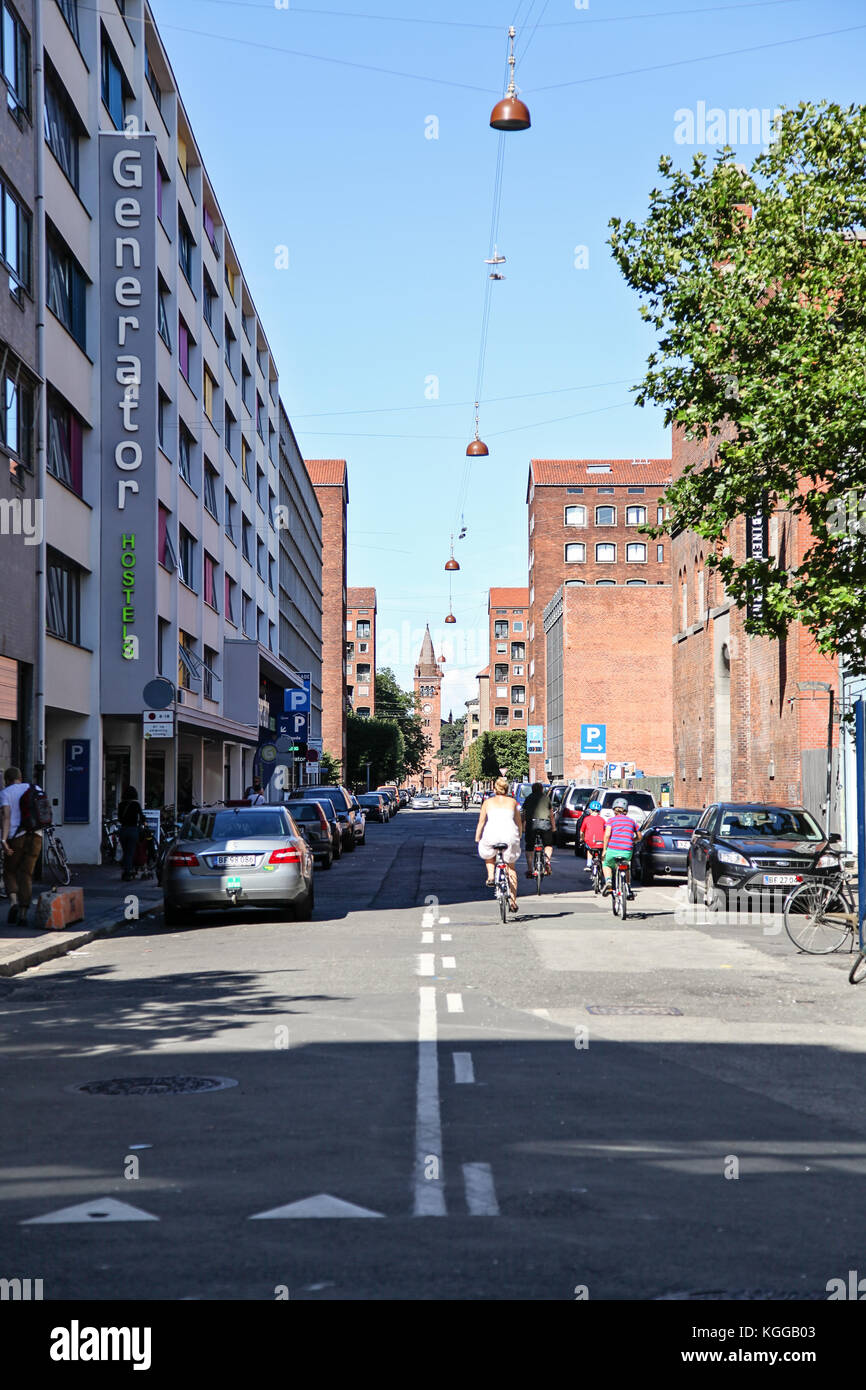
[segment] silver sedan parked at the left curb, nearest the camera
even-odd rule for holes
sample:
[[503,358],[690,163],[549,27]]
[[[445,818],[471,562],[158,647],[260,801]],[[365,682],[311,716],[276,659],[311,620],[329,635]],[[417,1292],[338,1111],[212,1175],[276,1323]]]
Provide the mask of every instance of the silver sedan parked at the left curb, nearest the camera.
[[165,926],[215,908],[292,910],[307,920],[313,873],[313,851],[288,806],[200,806],[186,816],[165,859]]

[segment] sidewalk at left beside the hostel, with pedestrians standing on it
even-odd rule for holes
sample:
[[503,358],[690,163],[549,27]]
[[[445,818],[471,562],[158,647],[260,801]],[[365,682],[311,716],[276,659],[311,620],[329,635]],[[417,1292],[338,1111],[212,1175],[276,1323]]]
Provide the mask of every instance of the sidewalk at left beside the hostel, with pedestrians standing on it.
[[[67,931],[39,931],[36,927],[7,924],[8,899],[0,898],[0,977],[19,974],[40,960],[67,955],[95,937],[111,935],[126,922],[129,898],[138,898],[138,915],[143,916],[161,906],[163,892],[156,878],[121,883],[120,865],[71,865],[70,887],[83,888],[85,920]],[[33,903],[51,884],[33,881]],[[31,916],[33,909],[31,908]]]

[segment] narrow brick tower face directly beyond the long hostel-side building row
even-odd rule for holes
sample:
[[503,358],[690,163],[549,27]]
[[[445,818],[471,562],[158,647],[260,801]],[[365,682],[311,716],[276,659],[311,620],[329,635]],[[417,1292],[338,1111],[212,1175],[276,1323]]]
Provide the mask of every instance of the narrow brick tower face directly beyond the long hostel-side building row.
[[321,737],[325,753],[346,767],[346,513],[345,459],[307,459],[322,513]]

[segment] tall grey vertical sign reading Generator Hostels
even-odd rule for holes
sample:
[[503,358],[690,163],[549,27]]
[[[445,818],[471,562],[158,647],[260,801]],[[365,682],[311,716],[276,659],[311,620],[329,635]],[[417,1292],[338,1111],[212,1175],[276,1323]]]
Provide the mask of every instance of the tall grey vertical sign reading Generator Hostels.
[[99,136],[106,714],[139,714],[157,634],[156,136]]

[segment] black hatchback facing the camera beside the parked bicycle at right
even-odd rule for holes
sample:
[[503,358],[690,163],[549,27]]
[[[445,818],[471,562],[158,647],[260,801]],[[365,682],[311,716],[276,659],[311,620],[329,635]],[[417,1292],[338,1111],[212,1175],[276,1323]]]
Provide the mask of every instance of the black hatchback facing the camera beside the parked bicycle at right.
[[692,831],[688,901],[714,910],[727,908],[730,894],[785,897],[803,880],[835,873],[840,842],[802,806],[714,802]]

